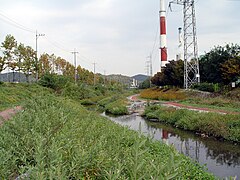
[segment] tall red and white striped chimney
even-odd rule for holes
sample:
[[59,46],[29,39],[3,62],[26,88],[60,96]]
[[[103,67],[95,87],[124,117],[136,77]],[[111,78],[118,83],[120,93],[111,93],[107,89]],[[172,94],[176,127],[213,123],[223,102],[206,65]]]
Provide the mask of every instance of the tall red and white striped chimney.
[[166,7],[165,0],[160,0],[160,53],[161,67],[167,64]]

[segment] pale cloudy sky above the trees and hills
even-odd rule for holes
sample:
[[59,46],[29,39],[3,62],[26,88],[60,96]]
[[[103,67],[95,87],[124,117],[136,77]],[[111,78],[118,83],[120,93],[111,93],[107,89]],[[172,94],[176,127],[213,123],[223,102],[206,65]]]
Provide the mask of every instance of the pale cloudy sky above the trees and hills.
[[[170,0],[166,0],[166,4]],[[166,5],[166,6],[167,6]],[[166,7],[167,8],[167,7]],[[240,44],[240,0],[195,0],[199,55],[214,46]],[[159,71],[160,0],[0,0],[0,42],[7,34],[38,52],[55,54],[104,74],[146,74],[152,54]],[[183,7],[167,8],[168,59],[178,52]]]

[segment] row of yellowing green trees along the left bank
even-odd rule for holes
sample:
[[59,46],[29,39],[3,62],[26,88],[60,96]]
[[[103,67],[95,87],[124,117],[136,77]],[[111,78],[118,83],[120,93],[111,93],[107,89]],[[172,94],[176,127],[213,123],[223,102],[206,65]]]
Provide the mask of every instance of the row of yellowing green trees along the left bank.
[[[58,57],[54,54],[44,53],[39,59],[36,57],[36,51],[22,43],[17,43],[12,35],[7,35],[4,42],[1,43],[3,56],[0,56],[0,73],[9,69],[13,72],[13,82],[17,81],[14,76],[15,72],[24,73],[27,81],[32,75],[41,78],[46,74],[58,74],[71,78],[75,77],[75,67],[66,59]],[[76,68],[77,80],[81,83],[93,84],[94,73],[78,66]],[[104,82],[104,78],[97,74],[95,82]]]

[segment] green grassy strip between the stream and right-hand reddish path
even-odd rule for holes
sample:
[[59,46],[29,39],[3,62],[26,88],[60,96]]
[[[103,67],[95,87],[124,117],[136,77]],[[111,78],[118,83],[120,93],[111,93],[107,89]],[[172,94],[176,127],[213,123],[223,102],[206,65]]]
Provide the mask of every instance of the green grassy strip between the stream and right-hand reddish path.
[[144,116],[184,130],[240,142],[240,114],[200,113],[154,105],[145,109]]

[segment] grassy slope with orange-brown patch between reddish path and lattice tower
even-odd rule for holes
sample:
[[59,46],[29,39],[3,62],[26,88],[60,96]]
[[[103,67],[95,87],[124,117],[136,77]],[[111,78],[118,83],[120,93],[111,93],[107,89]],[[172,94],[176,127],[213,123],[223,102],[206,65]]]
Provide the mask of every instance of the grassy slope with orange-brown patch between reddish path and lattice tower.
[[226,95],[185,91],[181,89],[151,88],[143,90],[140,97],[160,101],[177,101],[185,105],[240,112],[240,90],[235,89]]

